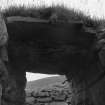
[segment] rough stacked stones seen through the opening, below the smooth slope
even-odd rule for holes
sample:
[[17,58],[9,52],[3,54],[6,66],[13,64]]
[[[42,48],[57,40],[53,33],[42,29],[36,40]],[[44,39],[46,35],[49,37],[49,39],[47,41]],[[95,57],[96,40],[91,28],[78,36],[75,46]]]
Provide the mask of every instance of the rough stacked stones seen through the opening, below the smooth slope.
[[53,84],[32,92],[26,91],[26,105],[70,105],[70,88]]

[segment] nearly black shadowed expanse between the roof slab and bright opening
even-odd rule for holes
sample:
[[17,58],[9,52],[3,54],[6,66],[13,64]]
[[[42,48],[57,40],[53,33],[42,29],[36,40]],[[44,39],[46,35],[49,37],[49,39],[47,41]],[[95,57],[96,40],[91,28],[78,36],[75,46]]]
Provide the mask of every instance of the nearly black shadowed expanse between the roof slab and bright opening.
[[14,68],[51,74],[87,68],[95,35],[84,32],[82,23],[13,22],[7,29],[9,62]]

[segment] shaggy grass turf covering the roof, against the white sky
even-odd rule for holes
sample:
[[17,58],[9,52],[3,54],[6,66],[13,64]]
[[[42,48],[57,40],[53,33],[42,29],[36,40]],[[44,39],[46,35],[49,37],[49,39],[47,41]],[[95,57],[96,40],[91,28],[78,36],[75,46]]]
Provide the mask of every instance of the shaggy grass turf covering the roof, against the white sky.
[[58,20],[62,21],[82,21],[89,26],[97,26],[105,23],[104,20],[91,18],[81,11],[75,9],[68,9],[64,6],[52,6],[52,7],[25,7],[25,6],[10,6],[2,11],[3,15],[7,17],[21,16],[32,17],[38,19],[49,19],[52,14],[57,15]]

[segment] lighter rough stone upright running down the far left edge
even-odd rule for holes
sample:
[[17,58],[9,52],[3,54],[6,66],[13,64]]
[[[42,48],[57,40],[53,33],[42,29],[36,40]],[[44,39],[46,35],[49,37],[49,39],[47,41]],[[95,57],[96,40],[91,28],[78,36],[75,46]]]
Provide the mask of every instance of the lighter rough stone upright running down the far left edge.
[[7,28],[3,16],[0,13],[0,105],[3,105],[4,101],[3,95],[4,92],[6,91],[8,84],[8,70],[6,67],[6,63],[8,61],[6,49],[7,40],[8,40]]

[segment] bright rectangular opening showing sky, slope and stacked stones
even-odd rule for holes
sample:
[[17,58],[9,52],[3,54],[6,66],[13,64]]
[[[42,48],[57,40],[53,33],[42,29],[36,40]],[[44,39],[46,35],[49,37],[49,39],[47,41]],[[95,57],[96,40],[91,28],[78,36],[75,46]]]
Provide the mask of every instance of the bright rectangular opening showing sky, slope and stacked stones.
[[64,75],[26,73],[26,103],[69,105],[71,102],[70,84]]

